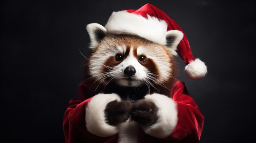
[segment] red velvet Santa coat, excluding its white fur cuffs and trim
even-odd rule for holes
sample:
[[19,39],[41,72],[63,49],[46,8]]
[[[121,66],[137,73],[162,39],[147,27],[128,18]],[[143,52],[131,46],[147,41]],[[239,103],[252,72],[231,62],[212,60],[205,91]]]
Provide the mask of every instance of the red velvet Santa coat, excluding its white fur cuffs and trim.
[[[91,98],[85,99],[90,86],[79,85],[79,98],[72,99],[64,114],[63,130],[66,143],[117,143],[118,135],[99,137],[87,131],[85,107]],[[138,143],[198,143],[204,124],[204,117],[195,101],[189,95],[184,83],[177,81],[170,93],[177,103],[178,122],[170,136],[164,139],[139,132]]]

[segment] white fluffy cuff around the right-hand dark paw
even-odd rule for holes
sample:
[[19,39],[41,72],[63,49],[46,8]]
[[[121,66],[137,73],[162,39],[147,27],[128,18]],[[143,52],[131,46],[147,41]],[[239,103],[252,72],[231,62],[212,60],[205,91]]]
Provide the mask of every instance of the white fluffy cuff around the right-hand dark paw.
[[157,138],[169,136],[177,125],[177,108],[173,99],[160,94],[146,95],[145,99],[159,108],[159,119],[154,125],[144,128],[146,134]]

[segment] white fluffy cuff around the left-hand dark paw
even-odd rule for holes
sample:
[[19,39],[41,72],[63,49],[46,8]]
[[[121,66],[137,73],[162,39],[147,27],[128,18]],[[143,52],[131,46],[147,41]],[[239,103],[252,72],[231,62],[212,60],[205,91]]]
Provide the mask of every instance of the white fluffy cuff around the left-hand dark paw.
[[104,110],[110,101],[121,101],[117,94],[98,94],[92,97],[85,109],[85,122],[87,130],[97,136],[107,137],[117,134],[115,126],[105,122]]

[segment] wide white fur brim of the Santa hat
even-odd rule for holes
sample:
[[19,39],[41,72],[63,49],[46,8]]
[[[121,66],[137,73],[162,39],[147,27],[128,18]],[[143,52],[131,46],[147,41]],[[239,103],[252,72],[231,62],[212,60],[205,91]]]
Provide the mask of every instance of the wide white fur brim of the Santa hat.
[[126,11],[113,12],[106,29],[109,33],[138,35],[161,45],[166,44],[166,22],[149,15],[146,19]]

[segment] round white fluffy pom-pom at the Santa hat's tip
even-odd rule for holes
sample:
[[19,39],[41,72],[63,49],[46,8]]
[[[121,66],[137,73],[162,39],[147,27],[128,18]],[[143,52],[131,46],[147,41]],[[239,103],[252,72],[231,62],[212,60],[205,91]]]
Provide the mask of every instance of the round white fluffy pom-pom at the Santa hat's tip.
[[207,74],[207,66],[200,59],[195,59],[185,67],[186,75],[189,78],[198,80]]

